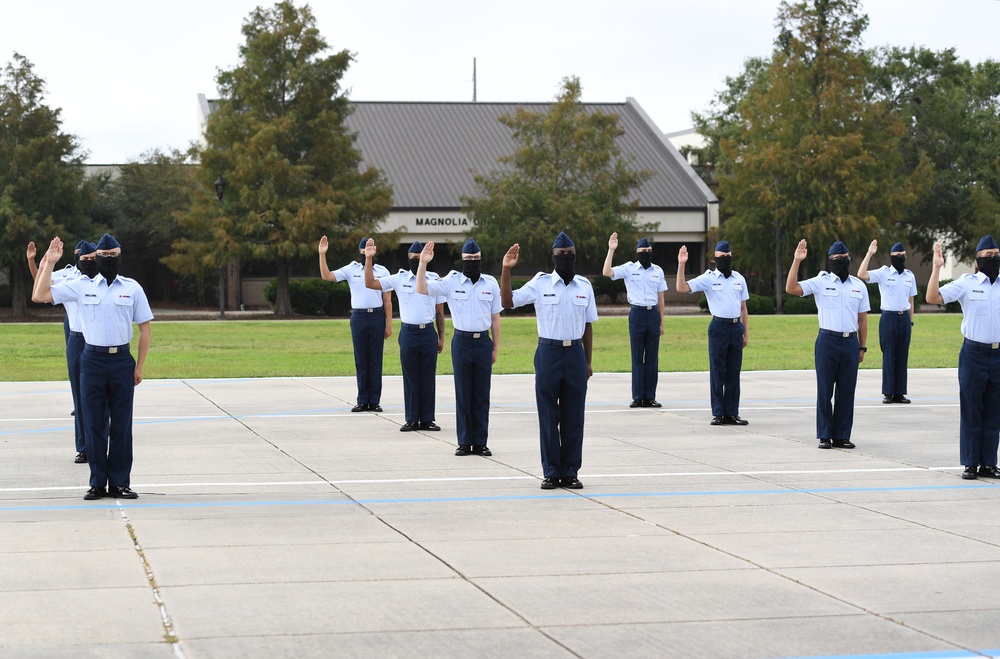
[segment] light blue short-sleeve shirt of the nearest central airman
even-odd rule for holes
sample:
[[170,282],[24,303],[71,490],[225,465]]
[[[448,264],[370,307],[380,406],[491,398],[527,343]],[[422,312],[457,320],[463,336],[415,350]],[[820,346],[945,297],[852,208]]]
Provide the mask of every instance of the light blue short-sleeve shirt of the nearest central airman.
[[567,286],[555,272],[539,272],[514,291],[514,306],[535,305],[538,336],[556,341],[583,338],[587,323],[597,320],[594,287],[576,275]]

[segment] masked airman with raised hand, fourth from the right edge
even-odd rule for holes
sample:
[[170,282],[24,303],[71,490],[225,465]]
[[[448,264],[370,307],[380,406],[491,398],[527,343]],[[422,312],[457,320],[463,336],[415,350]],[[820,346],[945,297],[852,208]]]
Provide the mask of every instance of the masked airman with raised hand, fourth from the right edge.
[[733,251],[729,241],[715,245],[715,270],[706,270],[690,282],[684,280],[688,261],[687,245],[677,253],[678,293],[704,292],[712,320],[708,323],[709,386],[712,401],[712,425],[745,426],[740,418],[740,371],[743,349],[750,340],[746,279],[733,270]]

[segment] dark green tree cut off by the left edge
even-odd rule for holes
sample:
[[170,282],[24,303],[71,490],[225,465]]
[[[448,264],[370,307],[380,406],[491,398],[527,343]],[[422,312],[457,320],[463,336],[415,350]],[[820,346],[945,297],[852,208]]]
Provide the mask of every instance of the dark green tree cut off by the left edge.
[[27,310],[28,242],[44,246],[59,234],[75,244],[90,228],[76,138],[60,130],[60,110],[44,95],[45,81],[14,53],[0,72],[0,268],[10,273],[14,316]]

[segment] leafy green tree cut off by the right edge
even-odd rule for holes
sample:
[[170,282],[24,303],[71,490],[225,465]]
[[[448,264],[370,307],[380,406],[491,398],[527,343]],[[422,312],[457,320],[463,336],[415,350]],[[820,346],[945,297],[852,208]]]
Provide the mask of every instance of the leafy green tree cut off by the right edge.
[[904,166],[933,165],[931,185],[905,222],[928,260],[935,242],[962,258],[1000,223],[1000,62],[970,64],[954,49],[882,48],[871,94],[897,109],[907,132]]

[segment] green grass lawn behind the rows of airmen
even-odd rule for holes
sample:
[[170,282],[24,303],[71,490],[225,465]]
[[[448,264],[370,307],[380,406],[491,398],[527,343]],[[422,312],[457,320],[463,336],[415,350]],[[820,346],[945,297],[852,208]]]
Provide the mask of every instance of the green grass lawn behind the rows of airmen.
[[[870,350],[862,368],[882,366],[878,314],[869,319]],[[962,345],[958,314],[917,314],[910,348],[912,368],[958,366]],[[661,371],[707,371],[709,317],[668,316],[660,341]],[[811,370],[815,316],[751,316],[743,370]],[[384,373],[399,375],[399,320],[386,342]],[[500,357],[494,373],[532,373],[538,335],[533,316],[503,317]],[[138,332],[133,338],[133,354]],[[451,322],[438,373],[450,374]],[[65,380],[61,323],[0,325],[0,380]],[[594,324],[594,371],[631,370],[628,318]],[[146,378],[237,378],[353,375],[351,330],[346,319],[296,321],[153,321]]]

